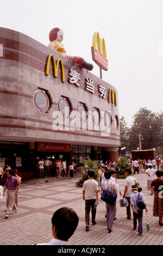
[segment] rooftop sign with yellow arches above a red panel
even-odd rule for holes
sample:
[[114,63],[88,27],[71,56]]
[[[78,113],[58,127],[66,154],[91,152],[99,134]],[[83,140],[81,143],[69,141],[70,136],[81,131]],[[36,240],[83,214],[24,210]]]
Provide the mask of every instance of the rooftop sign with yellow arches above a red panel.
[[103,70],[108,70],[108,59],[106,54],[106,45],[104,38],[100,38],[99,33],[93,33],[92,39],[92,59]]

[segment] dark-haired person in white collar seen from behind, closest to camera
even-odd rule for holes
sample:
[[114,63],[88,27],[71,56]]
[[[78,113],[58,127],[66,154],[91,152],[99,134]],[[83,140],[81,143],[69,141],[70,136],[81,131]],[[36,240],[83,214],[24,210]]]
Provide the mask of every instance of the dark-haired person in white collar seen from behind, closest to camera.
[[78,226],[79,218],[71,208],[63,207],[54,212],[52,217],[52,233],[54,238],[47,243],[36,245],[70,245],[68,239]]

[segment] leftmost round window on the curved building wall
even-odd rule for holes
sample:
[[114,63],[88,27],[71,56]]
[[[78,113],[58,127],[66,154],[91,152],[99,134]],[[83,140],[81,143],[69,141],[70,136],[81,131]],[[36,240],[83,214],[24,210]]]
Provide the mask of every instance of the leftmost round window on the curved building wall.
[[49,97],[47,92],[42,89],[35,90],[34,103],[40,112],[47,112],[49,109]]

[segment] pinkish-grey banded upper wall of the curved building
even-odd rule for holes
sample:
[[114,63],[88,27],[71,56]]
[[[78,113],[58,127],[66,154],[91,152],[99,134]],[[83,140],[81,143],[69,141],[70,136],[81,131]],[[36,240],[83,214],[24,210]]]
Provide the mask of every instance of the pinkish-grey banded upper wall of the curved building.
[[[22,33],[0,28],[0,45],[1,141],[70,143],[110,147],[110,149],[114,147],[114,150],[117,150],[121,143],[120,127],[116,127],[114,122],[115,116],[117,120],[119,119],[116,88],[78,65],[75,68],[70,60]],[[50,54],[53,54],[56,63],[59,58],[62,60],[65,83],[62,82],[61,65],[59,65],[58,77],[54,77],[52,60],[49,75],[46,75]],[[70,69],[80,73],[79,87],[70,83]],[[86,79],[93,81],[94,93],[86,90]],[[105,99],[100,96],[99,84],[106,88]],[[46,113],[39,112],[34,103],[34,92],[38,88],[45,90],[50,99],[50,107]],[[109,102],[110,88],[116,92],[117,106],[112,101]],[[61,96],[68,97],[72,111],[76,111],[79,102],[83,102],[90,112],[94,107],[99,108],[99,111],[110,112],[112,121],[108,134],[95,130],[78,130],[77,127],[73,130],[75,124],[71,128],[68,127],[69,130],[64,128],[54,131],[53,113],[58,111],[58,101]]]

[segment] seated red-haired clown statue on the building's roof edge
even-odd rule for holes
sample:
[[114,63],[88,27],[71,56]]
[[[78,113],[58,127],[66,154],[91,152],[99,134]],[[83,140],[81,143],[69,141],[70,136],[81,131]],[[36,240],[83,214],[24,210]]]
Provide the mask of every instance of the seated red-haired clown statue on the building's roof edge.
[[93,65],[86,62],[82,57],[67,55],[64,45],[61,44],[63,39],[64,32],[60,28],[53,28],[49,33],[49,40],[51,42],[49,43],[48,47],[53,51],[60,53],[67,59],[70,59],[72,62],[78,64],[82,68],[91,71],[93,69]]

